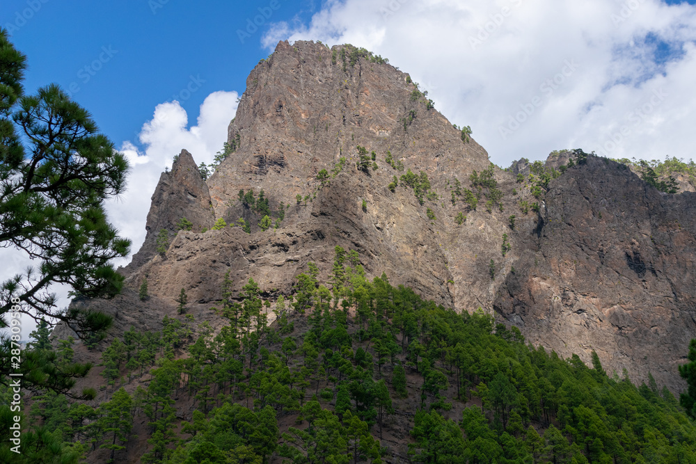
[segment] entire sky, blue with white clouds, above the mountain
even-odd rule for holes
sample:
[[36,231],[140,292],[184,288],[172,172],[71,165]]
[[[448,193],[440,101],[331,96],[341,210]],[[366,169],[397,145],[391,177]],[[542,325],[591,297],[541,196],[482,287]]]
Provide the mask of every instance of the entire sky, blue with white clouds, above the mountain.
[[[212,161],[248,73],[278,40],[389,58],[498,166],[577,147],[688,160],[695,2],[3,0],[0,25],[29,58],[27,93],[52,82],[71,90],[131,161],[127,191],[107,211],[136,251],[161,172],[182,148]],[[27,264],[0,253],[0,280]],[[67,289],[56,292],[67,304]]]

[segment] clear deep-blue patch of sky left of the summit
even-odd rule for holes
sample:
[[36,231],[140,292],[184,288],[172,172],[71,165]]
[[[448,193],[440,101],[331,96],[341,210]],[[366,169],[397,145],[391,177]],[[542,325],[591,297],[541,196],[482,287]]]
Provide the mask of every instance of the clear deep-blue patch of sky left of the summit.
[[[244,43],[235,31],[246,29],[258,8],[272,13],[263,18],[266,24],[313,11],[312,1],[277,0],[277,9],[269,3],[3,0],[0,24],[29,58],[26,90],[77,83],[74,99],[118,143],[135,141],[155,106],[174,95],[187,112],[197,114],[209,93],[241,93],[248,72],[269,52],[260,45],[266,25]],[[102,47],[111,52],[104,54]],[[205,82],[190,96],[181,95],[191,76]]]

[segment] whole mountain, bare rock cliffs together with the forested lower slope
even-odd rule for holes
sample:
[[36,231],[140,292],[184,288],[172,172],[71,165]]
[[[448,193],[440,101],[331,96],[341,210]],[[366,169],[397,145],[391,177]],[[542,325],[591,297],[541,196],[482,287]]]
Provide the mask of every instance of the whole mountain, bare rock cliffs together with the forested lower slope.
[[[280,42],[248,84],[215,173],[185,148],[162,173],[122,294],[72,302],[113,317],[74,360],[102,361],[77,383],[100,387],[80,405],[94,417],[134,401],[120,458],[304,462],[317,430],[356,462],[690,447],[670,390],[696,333],[696,193],[579,149],[498,168],[408,74],[349,45]],[[236,414],[274,439],[242,437]],[[72,436],[100,430],[85,420]]]

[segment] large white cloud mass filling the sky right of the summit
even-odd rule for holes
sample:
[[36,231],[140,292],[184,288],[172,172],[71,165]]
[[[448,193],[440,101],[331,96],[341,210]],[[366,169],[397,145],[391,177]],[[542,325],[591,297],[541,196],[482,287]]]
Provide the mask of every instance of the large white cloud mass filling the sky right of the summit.
[[329,0],[278,40],[388,57],[503,166],[582,147],[692,156],[696,7],[658,0]]

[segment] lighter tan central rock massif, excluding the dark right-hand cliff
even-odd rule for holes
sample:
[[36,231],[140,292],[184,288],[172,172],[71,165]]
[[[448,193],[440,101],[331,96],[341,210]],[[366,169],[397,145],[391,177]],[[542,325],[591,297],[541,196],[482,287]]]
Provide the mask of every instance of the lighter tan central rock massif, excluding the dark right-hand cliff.
[[[455,205],[451,198],[455,178],[465,182],[473,170],[489,166],[486,152],[473,140],[463,141],[407,74],[365,56],[351,61],[354,49],[346,50],[280,42],[269,60],[255,67],[229,128],[236,151],[207,181],[214,218],[228,224],[244,218],[253,233],[239,227],[179,232],[165,257],[131,266],[132,285],[148,275],[156,294],[173,298],[185,287],[189,301],[207,304],[221,298],[229,270],[238,289],[254,278],[267,295],[287,294],[307,262],[316,262],[322,277],[328,276],[340,245],[358,250],[368,275],[386,272],[392,282],[461,310],[490,307],[498,282],[489,277],[489,262],[500,260],[507,216],[472,211],[466,225],[458,225],[455,218],[465,209],[461,197]],[[368,156],[374,151],[377,170],[372,159],[365,172],[356,168],[358,145]],[[388,152],[394,166],[386,162]],[[337,174],[322,182],[317,174],[323,169]],[[408,170],[427,175],[436,196],[421,205],[411,188],[390,191],[393,177]],[[148,256],[155,232],[172,230],[184,214],[159,200],[184,195],[164,181],[157,192],[166,195],[155,193],[148,216],[152,232],[149,248],[143,247]],[[274,222],[284,216],[277,230],[262,232],[262,216],[239,200],[239,191],[249,189],[257,196],[264,191]],[[196,203],[196,211],[201,205]],[[164,226],[155,225],[160,211],[167,211]],[[206,227],[214,221],[208,218]],[[527,222],[535,224],[531,217]]]

